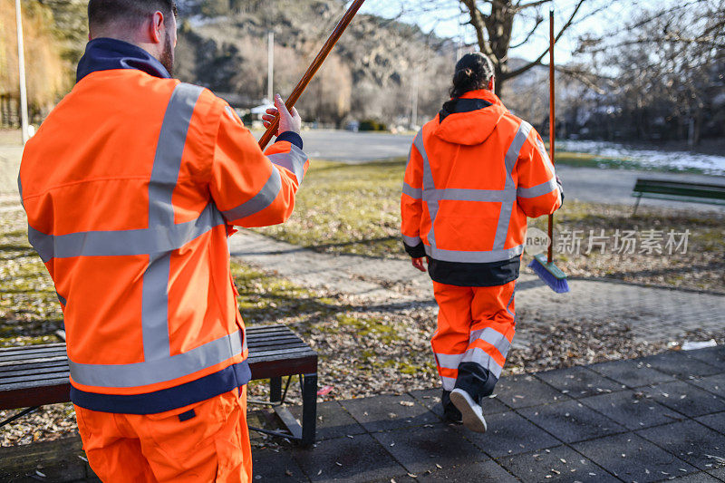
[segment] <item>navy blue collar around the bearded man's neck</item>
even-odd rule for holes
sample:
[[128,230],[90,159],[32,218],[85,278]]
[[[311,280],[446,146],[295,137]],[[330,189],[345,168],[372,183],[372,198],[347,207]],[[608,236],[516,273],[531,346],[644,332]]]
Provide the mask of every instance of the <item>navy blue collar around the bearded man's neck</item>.
[[85,53],[78,63],[76,82],[89,73],[111,69],[138,69],[154,77],[171,78],[166,68],[140,47],[122,40],[98,38],[86,45]]

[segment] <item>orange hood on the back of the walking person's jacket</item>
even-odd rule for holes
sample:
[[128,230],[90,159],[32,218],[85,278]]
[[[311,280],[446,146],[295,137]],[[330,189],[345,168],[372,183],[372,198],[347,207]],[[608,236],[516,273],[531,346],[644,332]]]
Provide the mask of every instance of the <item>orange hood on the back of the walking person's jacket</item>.
[[506,106],[488,90],[466,92],[443,104],[433,134],[454,144],[473,146],[488,139],[507,113]]

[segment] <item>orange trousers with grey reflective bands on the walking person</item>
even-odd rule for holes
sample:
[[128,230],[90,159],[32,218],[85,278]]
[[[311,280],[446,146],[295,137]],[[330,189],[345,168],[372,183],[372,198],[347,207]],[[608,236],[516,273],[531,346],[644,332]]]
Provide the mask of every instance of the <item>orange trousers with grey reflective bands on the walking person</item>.
[[430,344],[444,391],[460,388],[474,399],[490,395],[516,332],[516,281],[456,286],[433,281],[438,330]]

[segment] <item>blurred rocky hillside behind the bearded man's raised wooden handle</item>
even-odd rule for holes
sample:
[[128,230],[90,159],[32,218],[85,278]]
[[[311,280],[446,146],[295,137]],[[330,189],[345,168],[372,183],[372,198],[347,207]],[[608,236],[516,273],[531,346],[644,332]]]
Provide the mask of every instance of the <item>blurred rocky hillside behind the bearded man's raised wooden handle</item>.
[[[339,0],[189,0],[179,7],[179,78],[236,94],[240,102],[266,94],[268,32],[275,33],[275,91],[285,94],[344,12]],[[417,83],[420,122],[440,109],[454,54],[449,41],[415,26],[359,15],[300,110],[309,121],[338,125],[349,119],[406,124]]]

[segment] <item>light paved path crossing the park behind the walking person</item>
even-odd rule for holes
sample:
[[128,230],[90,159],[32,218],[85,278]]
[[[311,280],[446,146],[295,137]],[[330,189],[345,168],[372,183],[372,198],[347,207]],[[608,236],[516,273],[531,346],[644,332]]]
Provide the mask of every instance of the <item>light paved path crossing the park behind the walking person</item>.
[[[375,304],[432,303],[430,278],[405,260],[321,254],[247,230],[231,237],[229,246],[233,256],[297,285],[331,288]],[[517,285],[519,318],[525,324],[617,320],[648,342],[676,340],[698,328],[720,331],[725,324],[723,295],[589,280],[569,280],[569,286],[569,294],[558,295],[523,271]]]

